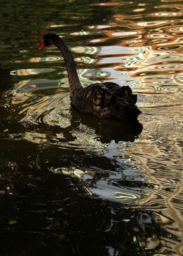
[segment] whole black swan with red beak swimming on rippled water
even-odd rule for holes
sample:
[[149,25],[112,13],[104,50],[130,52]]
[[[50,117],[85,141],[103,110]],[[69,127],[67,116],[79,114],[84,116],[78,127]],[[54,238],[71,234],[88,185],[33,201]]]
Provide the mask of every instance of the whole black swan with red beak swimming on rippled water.
[[119,86],[116,83],[95,83],[82,87],[77,75],[73,56],[65,42],[56,34],[45,34],[42,45],[55,45],[61,51],[65,60],[69,85],[71,105],[80,112],[96,117],[135,120],[141,111],[135,105],[137,95],[132,94],[129,86]]

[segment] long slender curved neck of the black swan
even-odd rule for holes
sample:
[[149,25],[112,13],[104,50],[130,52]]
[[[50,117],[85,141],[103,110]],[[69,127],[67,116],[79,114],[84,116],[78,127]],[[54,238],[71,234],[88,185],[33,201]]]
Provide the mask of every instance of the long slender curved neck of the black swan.
[[53,40],[53,44],[59,48],[65,60],[70,85],[70,98],[73,98],[74,94],[77,94],[83,88],[77,75],[73,56],[68,46],[59,36],[57,40]]

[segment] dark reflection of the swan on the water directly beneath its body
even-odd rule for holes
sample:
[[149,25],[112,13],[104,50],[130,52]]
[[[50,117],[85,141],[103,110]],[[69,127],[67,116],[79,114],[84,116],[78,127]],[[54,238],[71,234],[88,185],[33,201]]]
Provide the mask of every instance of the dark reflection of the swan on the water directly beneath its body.
[[[50,137],[57,137],[59,142],[72,142],[76,139],[72,131],[80,132],[85,126],[90,129],[91,133],[97,136],[97,140],[101,143],[110,143],[112,140],[114,140],[115,143],[119,141],[133,142],[143,130],[143,126],[139,124],[138,120],[125,122],[102,119],[79,113],[73,108],[71,108],[70,113],[72,116],[70,125],[66,128],[55,125],[55,128],[51,128]],[[56,136],[58,133],[62,133],[63,138],[58,138],[58,136]],[[52,141],[51,138],[49,140]]]

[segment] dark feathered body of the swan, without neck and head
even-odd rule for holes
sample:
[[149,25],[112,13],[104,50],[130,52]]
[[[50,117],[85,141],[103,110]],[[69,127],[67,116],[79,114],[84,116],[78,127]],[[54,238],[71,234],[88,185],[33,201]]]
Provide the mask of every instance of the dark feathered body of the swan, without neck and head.
[[96,83],[81,89],[72,99],[71,105],[81,112],[98,117],[119,120],[134,120],[139,109],[135,105],[137,95],[129,86],[116,83]]

